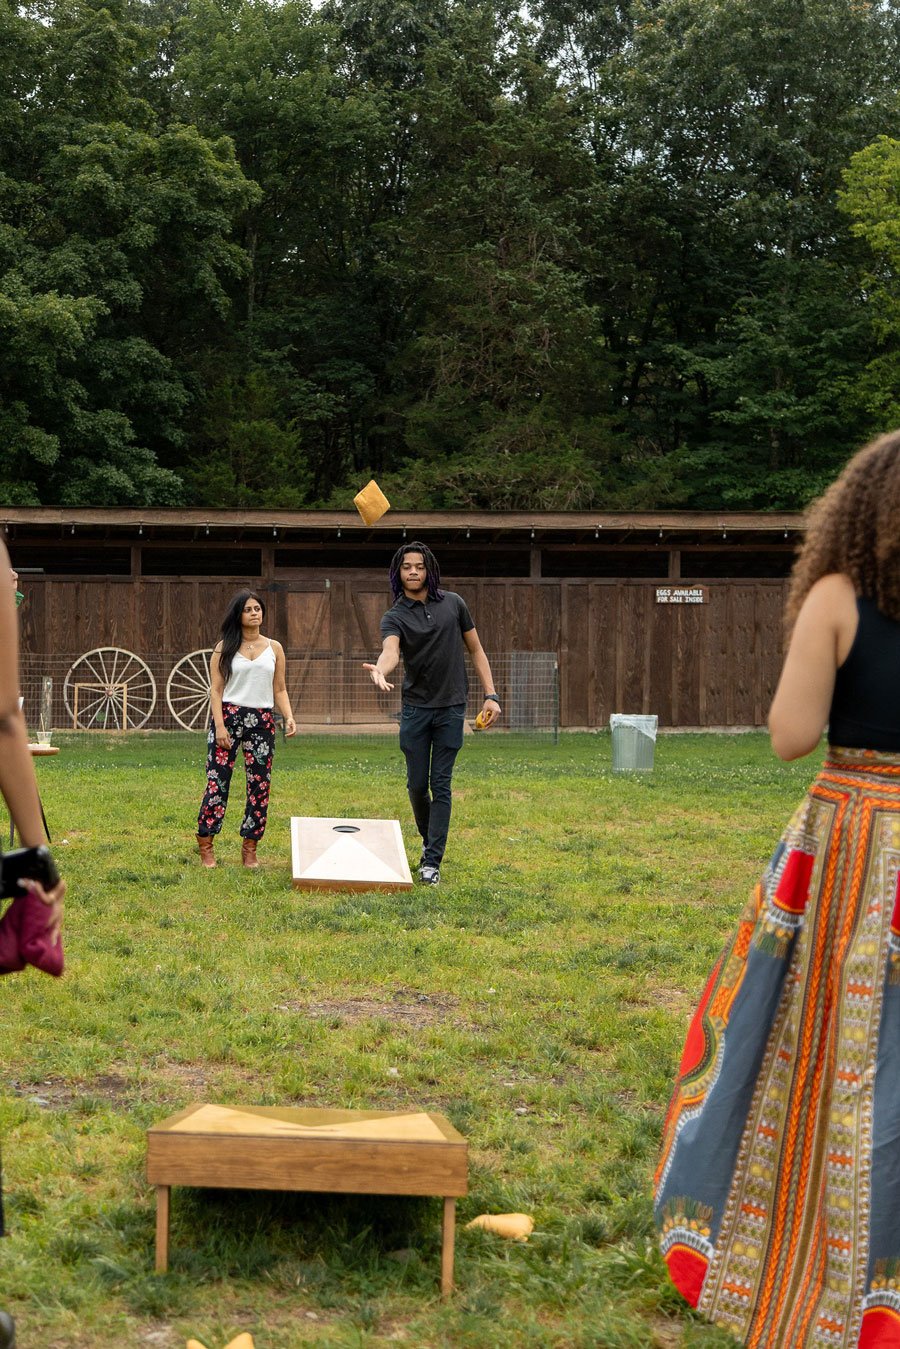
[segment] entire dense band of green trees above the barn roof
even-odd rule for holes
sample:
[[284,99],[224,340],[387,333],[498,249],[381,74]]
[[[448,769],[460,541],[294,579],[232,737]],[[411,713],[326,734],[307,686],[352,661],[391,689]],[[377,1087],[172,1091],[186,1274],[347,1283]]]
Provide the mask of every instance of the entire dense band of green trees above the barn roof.
[[3,4],[3,499],[803,505],[900,421],[899,20]]

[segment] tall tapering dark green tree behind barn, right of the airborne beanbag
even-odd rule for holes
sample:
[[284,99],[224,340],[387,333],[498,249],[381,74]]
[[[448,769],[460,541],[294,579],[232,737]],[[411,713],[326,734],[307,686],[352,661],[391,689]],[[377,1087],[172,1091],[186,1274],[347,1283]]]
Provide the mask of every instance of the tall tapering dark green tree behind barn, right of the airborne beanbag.
[[395,380],[406,495],[587,505],[610,372],[584,294],[595,178],[576,111],[529,28],[488,7],[455,9],[414,109],[397,258],[413,329]]

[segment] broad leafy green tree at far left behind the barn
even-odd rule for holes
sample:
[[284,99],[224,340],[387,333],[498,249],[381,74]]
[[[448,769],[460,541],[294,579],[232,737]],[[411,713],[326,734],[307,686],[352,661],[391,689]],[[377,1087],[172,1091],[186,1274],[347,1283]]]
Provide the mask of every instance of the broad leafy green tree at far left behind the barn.
[[[161,130],[130,89],[140,31],[61,0],[16,42],[0,205],[0,492],[92,505],[182,499],[179,357],[227,310],[229,233],[252,189],[228,143]],[[26,66],[26,58],[30,63]]]

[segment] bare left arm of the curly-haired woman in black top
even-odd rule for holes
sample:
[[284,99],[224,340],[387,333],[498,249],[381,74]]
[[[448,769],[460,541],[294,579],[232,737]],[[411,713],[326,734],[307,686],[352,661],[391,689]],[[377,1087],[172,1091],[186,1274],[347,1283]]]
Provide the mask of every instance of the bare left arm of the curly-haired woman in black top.
[[853,646],[857,598],[847,576],[823,576],[803,602],[769,711],[772,749],[783,759],[810,754],[828,720],[834,679]]

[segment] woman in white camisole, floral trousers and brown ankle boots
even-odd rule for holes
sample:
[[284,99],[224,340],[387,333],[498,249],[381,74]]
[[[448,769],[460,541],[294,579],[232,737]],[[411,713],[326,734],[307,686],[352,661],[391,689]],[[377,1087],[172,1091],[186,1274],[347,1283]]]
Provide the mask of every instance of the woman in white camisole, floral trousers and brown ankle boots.
[[228,789],[237,746],[244,751],[247,803],[240,826],[244,866],[256,867],[256,843],[266,831],[271,764],[275,753],[275,715],[285,718],[285,734],[294,735],[294,714],[285,683],[281,642],[260,631],[266,606],[254,591],[239,591],[221,625],[221,641],[209,661],[209,734],[206,791],[197,819],[197,847],[204,866],[215,866],[213,838],[225,820]]

